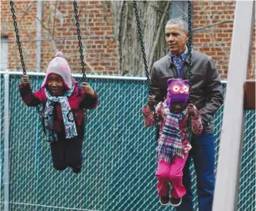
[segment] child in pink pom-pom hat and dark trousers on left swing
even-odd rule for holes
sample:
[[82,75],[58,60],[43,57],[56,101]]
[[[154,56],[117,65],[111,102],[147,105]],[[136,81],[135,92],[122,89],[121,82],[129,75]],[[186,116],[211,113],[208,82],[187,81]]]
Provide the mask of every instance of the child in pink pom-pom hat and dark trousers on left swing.
[[69,166],[74,173],[79,173],[85,134],[84,108],[95,108],[98,94],[88,83],[78,84],[71,77],[68,61],[62,58],[62,52],[50,61],[38,91],[32,93],[28,75],[22,76],[18,88],[22,101],[28,107],[43,104],[44,130],[51,146],[55,170],[65,170]]

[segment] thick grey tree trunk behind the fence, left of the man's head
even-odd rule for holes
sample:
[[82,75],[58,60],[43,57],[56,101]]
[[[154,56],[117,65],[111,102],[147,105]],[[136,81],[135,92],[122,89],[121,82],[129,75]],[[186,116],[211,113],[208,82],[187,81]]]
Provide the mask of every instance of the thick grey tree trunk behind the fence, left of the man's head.
[[[145,75],[141,41],[131,1],[111,1],[118,51],[118,73]],[[145,46],[148,71],[159,58],[167,54],[165,24],[169,19],[171,1],[138,1],[138,15]]]

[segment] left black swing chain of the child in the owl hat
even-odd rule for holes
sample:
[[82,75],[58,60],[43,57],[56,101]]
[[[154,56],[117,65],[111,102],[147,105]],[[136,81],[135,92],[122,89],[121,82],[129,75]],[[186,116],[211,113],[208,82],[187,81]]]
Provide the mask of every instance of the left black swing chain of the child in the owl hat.
[[[139,39],[141,42],[141,52],[142,52],[142,57],[143,57],[143,63],[145,65],[145,73],[146,73],[147,83],[148,83],[148,95],[152,95],[150,78],[149,78],[149,74],[148,74],[148,64],[147,64],[147,59],[146,59],[146,54],[145,54],[144,42],[143,42],[143,38],[142,38],[141,23],[140,23],[140,18],[138,16],[137,2],[133,1],[133,5],[135,8],[135,16],[136,16],[136,21],[137,21],[137,26],[138,26],[138,36],[139,36]],[[154,105],[151,106],[151,110],[154,112],[155,120],[157,120],[158,118],[155,114],[155,106]]]

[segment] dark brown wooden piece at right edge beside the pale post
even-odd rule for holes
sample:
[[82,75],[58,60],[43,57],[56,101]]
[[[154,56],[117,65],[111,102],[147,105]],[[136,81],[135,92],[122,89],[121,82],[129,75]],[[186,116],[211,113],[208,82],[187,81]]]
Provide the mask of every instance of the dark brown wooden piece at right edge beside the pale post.
[[244,82],[244,110],[255,110],[255,81]]

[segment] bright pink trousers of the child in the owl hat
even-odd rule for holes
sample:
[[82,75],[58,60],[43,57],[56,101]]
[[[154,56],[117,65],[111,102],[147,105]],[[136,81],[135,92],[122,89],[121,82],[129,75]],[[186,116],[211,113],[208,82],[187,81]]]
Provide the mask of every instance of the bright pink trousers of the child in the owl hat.
[[185,166],[188,153],[183,158],[176,158],[174,163],[158,162],[158,170],[155,175],[158,178],[158,195],[169,196],[170,183],[172,185],[171,196],[175,199],[181,198],[186,194],[185,186],[182,184],[182,170]]

